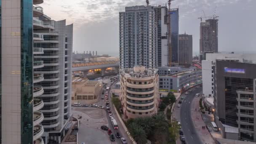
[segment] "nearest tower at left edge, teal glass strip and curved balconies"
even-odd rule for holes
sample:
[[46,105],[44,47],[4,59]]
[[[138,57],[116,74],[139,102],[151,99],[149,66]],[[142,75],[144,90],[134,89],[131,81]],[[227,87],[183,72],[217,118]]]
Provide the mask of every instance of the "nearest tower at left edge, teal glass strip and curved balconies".
[[[2,144],[43,144],[43,67],[33,61],[33,16],[43,0],[1,0],[1,141]],[[36,51],[35,51],[36,53]],[[34,53],[34,54],[35,54]],[[43,53],[40,51],[39,53]]]

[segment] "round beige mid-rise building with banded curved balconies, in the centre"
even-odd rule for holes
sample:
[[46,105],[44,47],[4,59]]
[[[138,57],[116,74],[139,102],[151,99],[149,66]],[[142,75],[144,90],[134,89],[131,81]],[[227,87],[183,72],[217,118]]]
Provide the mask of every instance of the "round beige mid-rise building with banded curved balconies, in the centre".
[[158,110],[157,69],[137,66],[120,70],[120,101],[125,119],[147,117]]

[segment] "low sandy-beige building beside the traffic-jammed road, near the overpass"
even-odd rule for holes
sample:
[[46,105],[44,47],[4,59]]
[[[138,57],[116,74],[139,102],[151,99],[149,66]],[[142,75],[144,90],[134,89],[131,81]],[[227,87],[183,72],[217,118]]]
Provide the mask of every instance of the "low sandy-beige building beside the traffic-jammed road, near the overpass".
[[93,104],[100,96],[99,81],[77,77],[72,81],[72,104]]

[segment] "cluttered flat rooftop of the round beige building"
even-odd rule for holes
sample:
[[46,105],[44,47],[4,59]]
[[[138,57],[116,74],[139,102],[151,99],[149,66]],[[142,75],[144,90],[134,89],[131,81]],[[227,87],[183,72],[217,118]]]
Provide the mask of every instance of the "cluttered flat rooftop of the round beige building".
[[157,74],[158,69],[146,69],[144,66],[135,66],[133,68],[121,69],[123,75],[131,77],[151,77]]

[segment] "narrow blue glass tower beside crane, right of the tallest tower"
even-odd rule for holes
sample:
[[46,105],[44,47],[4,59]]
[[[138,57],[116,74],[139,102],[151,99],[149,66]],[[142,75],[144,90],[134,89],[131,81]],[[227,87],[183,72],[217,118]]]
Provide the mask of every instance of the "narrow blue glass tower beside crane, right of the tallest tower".
[[179,62],[179,8],[169,11],[171,24],[171,62]]

